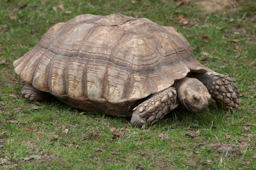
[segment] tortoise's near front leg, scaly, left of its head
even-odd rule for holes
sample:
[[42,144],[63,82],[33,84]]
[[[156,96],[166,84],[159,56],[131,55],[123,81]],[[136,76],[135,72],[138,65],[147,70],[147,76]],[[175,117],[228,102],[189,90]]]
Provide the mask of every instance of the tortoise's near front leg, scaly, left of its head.
[[146,124],[154,123],[163,118],[176,102],[177,93],[173,87],[152,95],[135,107],[131,125],[145,128]]

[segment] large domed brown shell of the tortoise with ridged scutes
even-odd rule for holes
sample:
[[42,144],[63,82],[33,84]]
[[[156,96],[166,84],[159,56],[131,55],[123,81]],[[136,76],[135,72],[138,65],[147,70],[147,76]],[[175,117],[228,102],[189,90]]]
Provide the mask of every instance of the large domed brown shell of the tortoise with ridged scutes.
[[190,71],[207,72],[178,30],[121,14],[57,23],[13,65],[39,90],[112,104],[161,92]]

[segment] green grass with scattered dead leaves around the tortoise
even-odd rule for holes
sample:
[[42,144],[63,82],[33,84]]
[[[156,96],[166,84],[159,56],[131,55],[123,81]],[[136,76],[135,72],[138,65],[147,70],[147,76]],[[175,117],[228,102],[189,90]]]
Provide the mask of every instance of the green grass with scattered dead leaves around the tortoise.
[[[133,2],[1,1],[0,60],[7,63],[0,65],[0,169],[256,168],[255,2],[230,1],[212,12],[199,0],[178,7],[177,1]],[[241,110],[226,114],[212,101],[200,114],[175,110],[141,130],[133,128],[129,118],[84,112],[54,98],[30,102],[18,97],[25,82],[11,63],[52,25],[82,13],[122,13],[174,26],[200,62],[235,77],[243,94]]]

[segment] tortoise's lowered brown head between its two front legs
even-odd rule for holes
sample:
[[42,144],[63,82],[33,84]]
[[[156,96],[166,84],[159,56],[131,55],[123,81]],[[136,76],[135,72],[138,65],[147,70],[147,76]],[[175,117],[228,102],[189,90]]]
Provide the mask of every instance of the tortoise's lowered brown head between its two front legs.
[[[177,90],[180,105],[192,112],[202,112],[207,108],[211,98],[207,88],[195,78],[184,77],[175,81],[173,87]],[[177,104],[179,103],[177,102]]]

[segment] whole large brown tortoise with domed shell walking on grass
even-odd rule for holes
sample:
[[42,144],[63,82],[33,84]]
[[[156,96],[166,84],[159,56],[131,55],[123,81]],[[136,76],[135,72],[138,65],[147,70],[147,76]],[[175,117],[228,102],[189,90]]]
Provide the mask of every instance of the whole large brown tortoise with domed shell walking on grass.
[[145,128],[178,106],[202,112],[212,97],[239,108],[239,90],[226,75],[203,66],[175,28],[122,14],[84,14],[57,23],[13,62],[27,84],[23,97],[51,93],[67,105],[132,116]]

